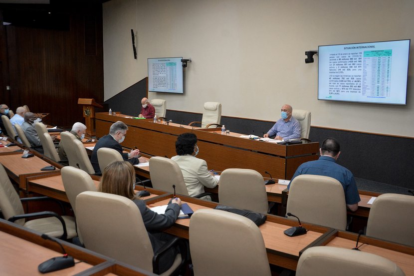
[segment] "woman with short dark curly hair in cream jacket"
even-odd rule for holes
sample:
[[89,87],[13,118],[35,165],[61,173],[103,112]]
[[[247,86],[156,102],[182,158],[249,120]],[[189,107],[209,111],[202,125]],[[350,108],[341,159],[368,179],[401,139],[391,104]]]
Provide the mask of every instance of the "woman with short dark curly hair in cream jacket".
[[[204,193],[204,187],[214,188],[217,186],[217,179],[207,169],[207,162],[197,158],[199,147],[197,136],[193,133],[183,133],[176,141],[176,152],[178,155],[171,158],[177,162],[183,172],[184,181],[190,196],[197,196]],[[203,199],[211,200],[210,196]]]

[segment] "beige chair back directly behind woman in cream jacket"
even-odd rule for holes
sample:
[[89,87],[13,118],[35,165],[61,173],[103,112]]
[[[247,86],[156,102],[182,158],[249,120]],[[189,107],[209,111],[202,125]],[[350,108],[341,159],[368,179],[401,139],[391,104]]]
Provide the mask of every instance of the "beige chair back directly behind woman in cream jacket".
[[150,158],[151,183],[155,189],[173,193],[173,185],[176,185],[176,193],[188,196],[183,173],[177,162],[160,156]]

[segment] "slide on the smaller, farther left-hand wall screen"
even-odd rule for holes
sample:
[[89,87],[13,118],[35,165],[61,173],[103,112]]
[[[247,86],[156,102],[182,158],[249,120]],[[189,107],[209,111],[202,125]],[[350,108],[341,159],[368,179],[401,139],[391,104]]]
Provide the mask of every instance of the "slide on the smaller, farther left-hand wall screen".
[[183,94],[182,57],[148,58],[148,90]]

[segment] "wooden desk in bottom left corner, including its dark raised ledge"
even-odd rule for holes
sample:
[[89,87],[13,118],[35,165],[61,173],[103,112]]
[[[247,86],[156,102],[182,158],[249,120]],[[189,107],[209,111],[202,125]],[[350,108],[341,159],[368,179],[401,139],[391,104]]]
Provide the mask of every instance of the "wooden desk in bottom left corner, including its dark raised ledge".
[[[50,276],[155,276],[155,274],[120,263],[96,252],[58,240],[75,266],[50,272]],[[0,219],[0,275],[43,275],[37,267],[46,260],[62,257],[60,246],[41,238],[41,234]]]

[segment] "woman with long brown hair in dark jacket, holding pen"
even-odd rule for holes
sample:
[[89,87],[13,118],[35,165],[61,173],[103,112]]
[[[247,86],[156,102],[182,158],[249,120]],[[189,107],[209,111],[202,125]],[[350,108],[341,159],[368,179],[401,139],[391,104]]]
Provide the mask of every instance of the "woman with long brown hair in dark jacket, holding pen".
[[[145,201],[135,195],[135,170],[128,161],[115,161],[109,164],[103,171],[98,191],[120,195],[131,199],[139,208],[145,228],[154,252],[168,243],[174,237],[161,232],[162,229],[171,227],[177,220],[181,210],[181,200],[174,198],[168,205],[165,214],[159,215],[151,211]],[[120,214],[121,215],[121,214]],[[169,249],[169,252],[160,258],[159,272],[167,271],[178,254],[176,248]]]

